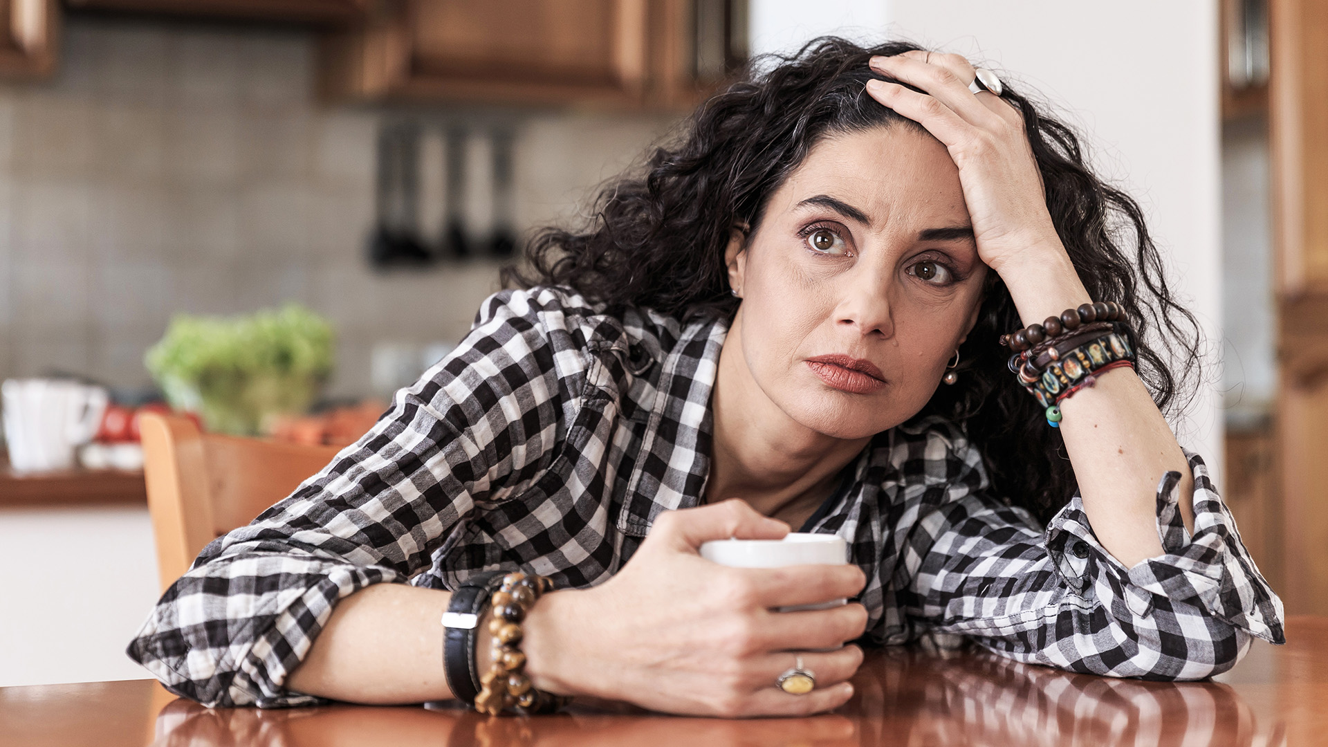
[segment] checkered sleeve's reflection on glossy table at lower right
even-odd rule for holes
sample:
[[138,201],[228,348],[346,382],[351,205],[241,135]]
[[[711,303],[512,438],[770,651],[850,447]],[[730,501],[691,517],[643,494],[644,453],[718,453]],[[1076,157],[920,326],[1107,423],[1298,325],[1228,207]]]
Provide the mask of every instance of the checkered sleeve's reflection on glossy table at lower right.
[[1286,744],[1218,682],[1142,682],[1021,665],[993,654],[884,651],[855,678],[859,744]]

